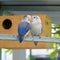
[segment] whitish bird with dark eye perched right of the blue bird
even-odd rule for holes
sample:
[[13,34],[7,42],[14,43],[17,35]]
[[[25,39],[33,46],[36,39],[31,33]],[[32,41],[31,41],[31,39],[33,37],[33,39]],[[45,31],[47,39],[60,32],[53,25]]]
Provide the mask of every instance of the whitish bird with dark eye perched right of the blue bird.
[[[42,22],[41,22],[41,18],[37,15],[33,15],[32,16],[32,21],[31,21],[31,34],[32,34],[32,38],[34,36],[39,36],[42,33]],[[34,38],[33,38],[34,41]],[[38,41],[34,41],[34,44],[37,46]]]

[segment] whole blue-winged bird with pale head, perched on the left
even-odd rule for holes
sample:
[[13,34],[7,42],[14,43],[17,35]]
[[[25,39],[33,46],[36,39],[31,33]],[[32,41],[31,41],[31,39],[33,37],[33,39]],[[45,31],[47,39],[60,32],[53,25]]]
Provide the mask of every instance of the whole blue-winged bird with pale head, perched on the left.
[[23,42],[24,36],[28,35],[30,30],[30,20],[31,15],[25,15],[23,20],[18,25],[18,38],[20,43]]

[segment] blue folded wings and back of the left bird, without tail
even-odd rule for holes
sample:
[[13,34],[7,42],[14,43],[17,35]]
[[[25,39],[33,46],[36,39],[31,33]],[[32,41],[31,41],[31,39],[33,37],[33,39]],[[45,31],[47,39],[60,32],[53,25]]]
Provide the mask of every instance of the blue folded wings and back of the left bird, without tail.
[[29,29],[30,29],[30,24],[27,22],[22,22],[18,26],[18,33],[19,33],[19,35],[20,34],[25,35]]

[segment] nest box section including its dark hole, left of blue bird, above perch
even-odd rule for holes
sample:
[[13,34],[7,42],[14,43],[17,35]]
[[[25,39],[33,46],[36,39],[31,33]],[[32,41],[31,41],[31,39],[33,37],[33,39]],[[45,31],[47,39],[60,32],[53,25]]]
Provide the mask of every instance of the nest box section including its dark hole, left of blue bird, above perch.
[[0,34],[17,34],[23,16],[0,16]]

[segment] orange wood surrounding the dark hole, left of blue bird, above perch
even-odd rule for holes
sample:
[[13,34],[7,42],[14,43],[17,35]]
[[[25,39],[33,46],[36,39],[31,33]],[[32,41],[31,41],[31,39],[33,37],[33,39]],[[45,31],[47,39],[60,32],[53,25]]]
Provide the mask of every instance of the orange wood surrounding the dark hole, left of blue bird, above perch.
[[[2,24],[5,19],[10,19],[12,27],[10,29],[4,29]],[[21,21],[21,16],[0,16],[0,34],[17,34],[17,27]]]

